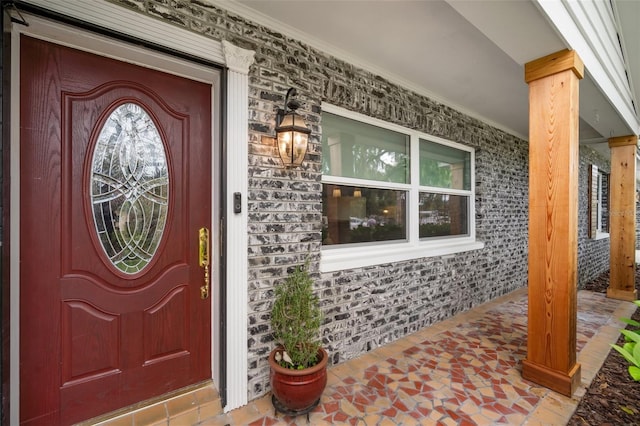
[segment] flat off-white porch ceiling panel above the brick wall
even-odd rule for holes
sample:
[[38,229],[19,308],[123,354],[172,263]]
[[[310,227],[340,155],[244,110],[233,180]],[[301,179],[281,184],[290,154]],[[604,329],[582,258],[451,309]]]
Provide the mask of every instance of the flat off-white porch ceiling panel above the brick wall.
[[445,1],[207,3],[526,139],[521,67]]

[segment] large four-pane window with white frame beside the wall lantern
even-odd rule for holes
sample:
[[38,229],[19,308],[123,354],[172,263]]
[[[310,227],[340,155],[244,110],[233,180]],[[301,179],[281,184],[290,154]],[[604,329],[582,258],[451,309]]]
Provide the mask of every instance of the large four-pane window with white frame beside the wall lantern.
[[323,259],[479,248],[472,148],[324,105],[322,153]]

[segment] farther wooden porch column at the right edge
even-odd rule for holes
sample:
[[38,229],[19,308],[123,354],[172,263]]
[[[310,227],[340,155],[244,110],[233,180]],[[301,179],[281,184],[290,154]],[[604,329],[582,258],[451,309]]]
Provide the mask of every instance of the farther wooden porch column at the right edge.
[[609,288],[607,297],[636,300],[636,146],[638,137],[609,139]]

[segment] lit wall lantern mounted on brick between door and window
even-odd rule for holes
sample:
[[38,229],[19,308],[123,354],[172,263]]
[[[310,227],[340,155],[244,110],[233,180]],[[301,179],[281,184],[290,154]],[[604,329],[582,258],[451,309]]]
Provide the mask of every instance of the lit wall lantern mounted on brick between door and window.
[[307,127],[302,116],[296,113],[300,102],[290,97],[297,95],[295,88],[287,90],[284,98],[284,109],[278,109],[276,115],[276,143],[278,153],[285,167],[298,167],[307,153],[311,129]]

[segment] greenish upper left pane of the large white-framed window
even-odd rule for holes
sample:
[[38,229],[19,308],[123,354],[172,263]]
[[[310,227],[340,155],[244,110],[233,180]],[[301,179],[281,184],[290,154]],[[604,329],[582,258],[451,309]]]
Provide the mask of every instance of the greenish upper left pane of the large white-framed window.
[[409,183],[409,136],[325,112],[322,173]]

